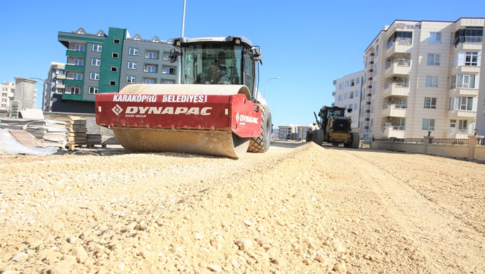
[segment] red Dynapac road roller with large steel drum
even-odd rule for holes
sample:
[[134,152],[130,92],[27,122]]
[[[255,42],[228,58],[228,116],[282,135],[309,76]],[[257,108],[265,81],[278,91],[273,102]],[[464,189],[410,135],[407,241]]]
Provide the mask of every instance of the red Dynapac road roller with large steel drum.
[[257,84],[259,46],[246,37],[174,39],[180,84],[129,84],[96,96],[96,123],[131,151],[187,152],[238,159],[266,152],[271,112]]

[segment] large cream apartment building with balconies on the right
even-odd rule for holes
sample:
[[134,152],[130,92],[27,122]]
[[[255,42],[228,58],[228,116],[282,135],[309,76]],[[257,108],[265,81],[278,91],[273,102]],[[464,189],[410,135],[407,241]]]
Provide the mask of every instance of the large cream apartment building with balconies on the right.
[[366,48],[366,138],[467,138],[477,117],[484,18],[395,20]]

